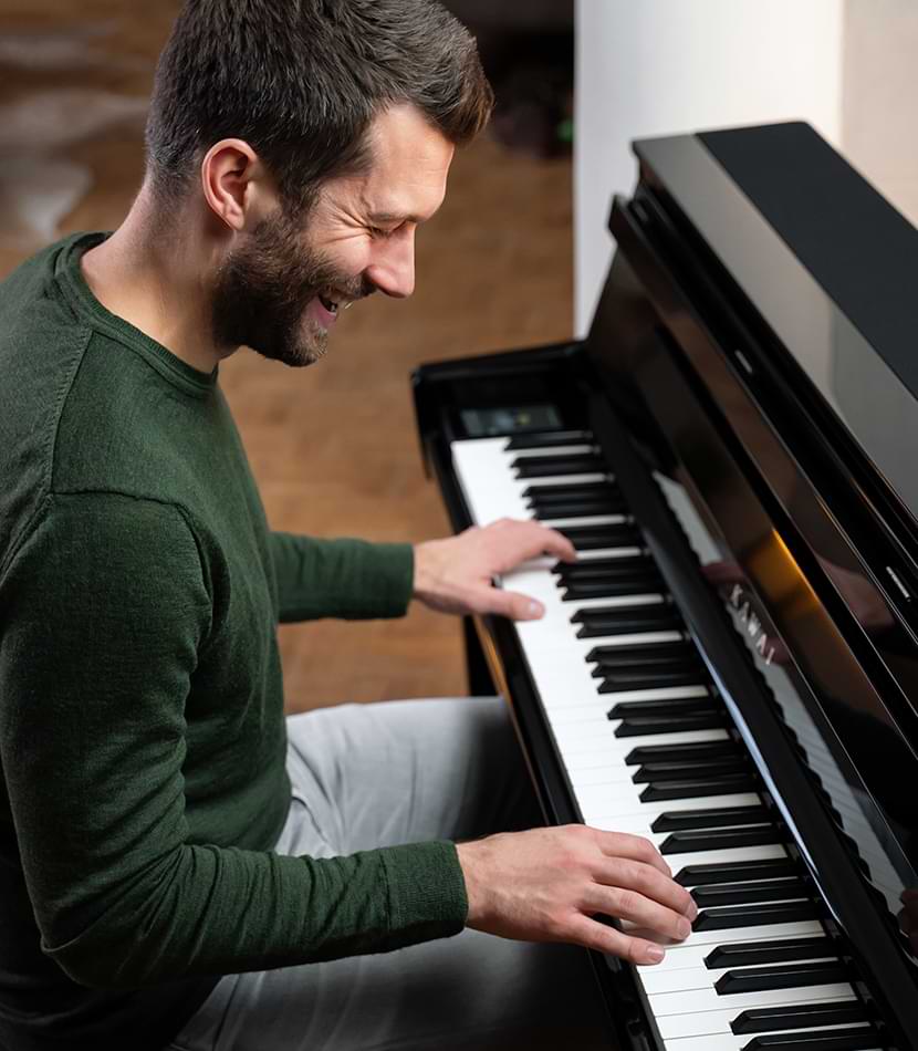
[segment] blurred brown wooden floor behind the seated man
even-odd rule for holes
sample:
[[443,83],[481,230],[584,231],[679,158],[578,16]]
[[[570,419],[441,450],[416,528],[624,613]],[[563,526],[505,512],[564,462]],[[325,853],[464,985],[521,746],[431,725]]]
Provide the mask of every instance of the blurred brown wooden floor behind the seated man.
[[[0,142],[13,159],[0,174],[0,275],[55,227],[111,228],[124,215],[173,10],[84,0],[75,21],[63,0],[40,0],[0,13]],[[374,540],[442,534],[410,371],[568,337],[572,252],[570,162],[486,138],[457,155],[447,200],[419,232],[410,300],[356,305],[310,368],[248,351],[228,361],[221,382],[272,526]],[[466,691],[459,623],[416,604],[401,621],[283,627],[281,647],[290,710]]]

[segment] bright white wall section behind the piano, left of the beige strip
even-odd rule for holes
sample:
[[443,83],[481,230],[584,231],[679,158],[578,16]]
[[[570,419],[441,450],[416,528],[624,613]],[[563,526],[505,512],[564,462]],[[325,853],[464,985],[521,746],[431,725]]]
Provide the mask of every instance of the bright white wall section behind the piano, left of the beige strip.
[[633,138],[803,118],[838,144],[843,0],[577,0],[575,330],[612,254]]

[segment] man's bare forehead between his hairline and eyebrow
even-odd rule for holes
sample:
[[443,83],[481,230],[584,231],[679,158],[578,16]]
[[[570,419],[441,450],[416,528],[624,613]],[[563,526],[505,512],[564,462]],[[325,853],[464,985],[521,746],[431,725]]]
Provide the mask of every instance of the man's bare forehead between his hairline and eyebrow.
[[369,145],[369,168],[332,179],[328,197],[377,218],[429,219],[446,194],[452,144],[414,106],[399,105],[374,118]]

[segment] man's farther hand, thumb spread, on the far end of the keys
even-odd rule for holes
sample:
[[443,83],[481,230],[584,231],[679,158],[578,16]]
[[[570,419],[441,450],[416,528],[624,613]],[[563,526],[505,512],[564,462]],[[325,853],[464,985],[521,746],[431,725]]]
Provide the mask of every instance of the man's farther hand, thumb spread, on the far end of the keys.
[[497,613],[534,621],[545,612],[542,604],[494,587],[493,577],[542,554],[576,561],[571,541],[539,522],[502,518],[483,528],[472,526],[458,537],[415,547],[414,595],[442,613]]

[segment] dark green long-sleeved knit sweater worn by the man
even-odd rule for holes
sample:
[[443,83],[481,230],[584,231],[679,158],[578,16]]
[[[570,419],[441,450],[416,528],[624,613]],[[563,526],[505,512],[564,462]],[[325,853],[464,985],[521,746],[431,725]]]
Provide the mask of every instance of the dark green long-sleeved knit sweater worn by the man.
[[281,857],[277,624],[405,612],[411,549],[271,532],[217,382],[71,237],[0,284],[0,1045],[159,1048],[216,976],[459,932],[451,843]]

